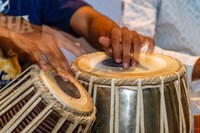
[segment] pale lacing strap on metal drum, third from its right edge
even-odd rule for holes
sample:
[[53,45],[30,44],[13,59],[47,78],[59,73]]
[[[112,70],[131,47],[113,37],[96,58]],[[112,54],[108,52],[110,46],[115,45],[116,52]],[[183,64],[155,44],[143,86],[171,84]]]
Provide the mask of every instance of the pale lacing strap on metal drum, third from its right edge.
[[[168,127],[168,122],[167,122],[167,112],[166,112],[166,105],[165,105],[165,95],[164,95],[164,77],[160,76],[160,133],[168,133],[169,132],[169,127]],[[165,129],[165,131],[164,131]]]

